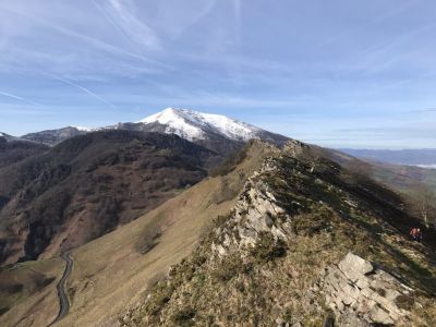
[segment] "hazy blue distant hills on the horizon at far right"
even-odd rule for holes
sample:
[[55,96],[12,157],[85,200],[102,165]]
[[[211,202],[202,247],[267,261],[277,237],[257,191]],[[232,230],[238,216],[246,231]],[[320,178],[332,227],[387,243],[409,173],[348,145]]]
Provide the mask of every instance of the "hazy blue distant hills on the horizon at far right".
[[436,168],[436,148],[423,149],[352,149],[339,150],[351,156],[374,161]]

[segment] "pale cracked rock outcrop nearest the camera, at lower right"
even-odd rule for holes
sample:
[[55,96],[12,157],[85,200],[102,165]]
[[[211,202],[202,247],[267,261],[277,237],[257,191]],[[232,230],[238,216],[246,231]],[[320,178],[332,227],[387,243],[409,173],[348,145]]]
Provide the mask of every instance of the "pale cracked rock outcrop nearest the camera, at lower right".
[[352,253],[326,268],[319,287],[340,326],[393,325],[407,322],[410,314],[396,300],[410,296],[411,289]]

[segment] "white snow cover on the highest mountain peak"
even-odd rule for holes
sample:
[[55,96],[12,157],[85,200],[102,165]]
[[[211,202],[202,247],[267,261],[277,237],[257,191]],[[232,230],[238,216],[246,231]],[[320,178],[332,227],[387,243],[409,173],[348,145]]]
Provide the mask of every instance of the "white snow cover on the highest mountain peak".
[[166,125],[166,133],[173,133],[190,141],[205,140],[208,133],[214,133],[233,141],[246,142],[251,138],[261,138],[259,134],[263,132],[256,126],[226,116],[175,108],[165,109],[140,120],[138,123]]

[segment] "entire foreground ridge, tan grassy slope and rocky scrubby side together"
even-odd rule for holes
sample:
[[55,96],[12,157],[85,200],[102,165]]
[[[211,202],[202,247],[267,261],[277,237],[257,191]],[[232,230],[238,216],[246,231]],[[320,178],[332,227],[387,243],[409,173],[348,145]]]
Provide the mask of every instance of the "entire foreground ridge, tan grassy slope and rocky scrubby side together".
[[[422,225],[401,197],[316,153],[253,142],[215,178],[72,251],[58,325],[433,326],[436,233],[411,242]],[[15,291],[0,323],[51,322],[53,287]]]

